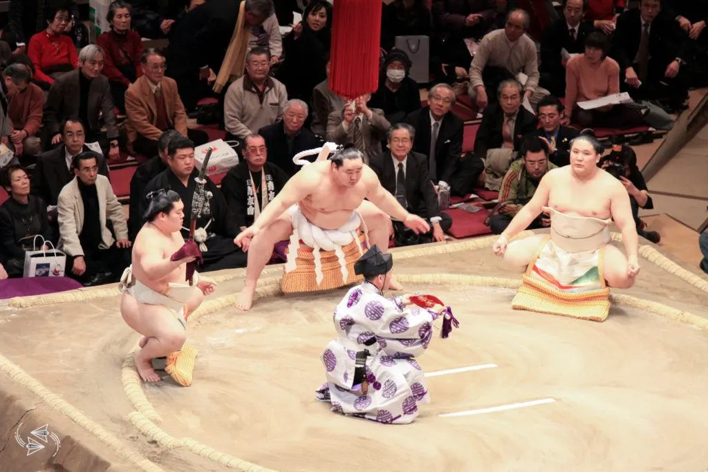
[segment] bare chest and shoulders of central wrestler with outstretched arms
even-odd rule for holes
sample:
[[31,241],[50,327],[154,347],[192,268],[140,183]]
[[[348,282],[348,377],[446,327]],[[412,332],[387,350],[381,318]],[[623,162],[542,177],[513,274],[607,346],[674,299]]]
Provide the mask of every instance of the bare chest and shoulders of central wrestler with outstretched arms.
[[378,182],[374,171],[364,166],[361,178],[355,185],[340,185],[331,178],[331,161],[312,163],[296,176],[299,192],[301,195],[307,193],[307,197],[297,205],[312,224],[322,229],[338,229],[343,226],[367,197],[372,188],[372,178],[375,183]]

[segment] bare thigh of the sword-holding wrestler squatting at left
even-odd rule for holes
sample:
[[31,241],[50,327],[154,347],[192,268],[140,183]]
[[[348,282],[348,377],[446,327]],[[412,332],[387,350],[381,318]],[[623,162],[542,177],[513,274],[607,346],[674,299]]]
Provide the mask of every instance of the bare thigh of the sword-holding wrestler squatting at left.
[[185,337],[185,329],[176,315],[162,305],[140,303],[131,294],[124,293],[120,300],[120,313],[130,328],[160,341],[178,341]]

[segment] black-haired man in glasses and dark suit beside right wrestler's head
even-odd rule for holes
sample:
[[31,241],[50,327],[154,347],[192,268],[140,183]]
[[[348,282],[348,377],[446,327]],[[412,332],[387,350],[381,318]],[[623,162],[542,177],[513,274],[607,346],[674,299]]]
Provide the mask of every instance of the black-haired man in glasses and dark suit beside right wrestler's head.
[[548,144],[548,159],[558,167],[571,163],[571,142],[580,134],[575,128],[561,125],[565,117],[564,110],[558,98],[542,98],[538,103],[538,122],[541,127],[529,135],[536,135]]

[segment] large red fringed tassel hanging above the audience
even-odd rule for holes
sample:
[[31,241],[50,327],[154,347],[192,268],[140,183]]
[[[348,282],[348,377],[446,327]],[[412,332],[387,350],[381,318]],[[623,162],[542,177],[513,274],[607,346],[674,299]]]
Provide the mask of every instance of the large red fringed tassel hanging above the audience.
[[337,0],[333,6],[329,88],[353,100],[379,87],[381,0]]

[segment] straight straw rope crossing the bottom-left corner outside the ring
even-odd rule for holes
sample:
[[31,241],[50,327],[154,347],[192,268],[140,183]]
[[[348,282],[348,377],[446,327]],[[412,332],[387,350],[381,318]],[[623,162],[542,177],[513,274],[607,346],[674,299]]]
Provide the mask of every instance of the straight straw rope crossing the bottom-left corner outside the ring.
[[127,449],[121,444],[121,442],[116,439],[113,434],[106,431],[97,422],[94,422],[88,416],[81,413],[79,410],[69,405],[66,401],[59,398],[58,395],[49,391],[45,386],[40,384],[39,381],[33,379],[29,374],[27,374],[21,367],[13,362],[10,362],[6,357],[0,355],[0,372],[6,374],[10,379],[17,384],[25,386],[30,392],[35,394],[42,399],[44,403],[50,408],[59,411],[64,416],[72,420],[77,425],[84,428],[84,430],[93,434],[99,441],[103,442],[111,450],[115,451],[119,456],[132,464],[135,464],[139,470],[144,472],[164,472],[163,469],[159,468],[151,461],[140,456],[136,452]]

